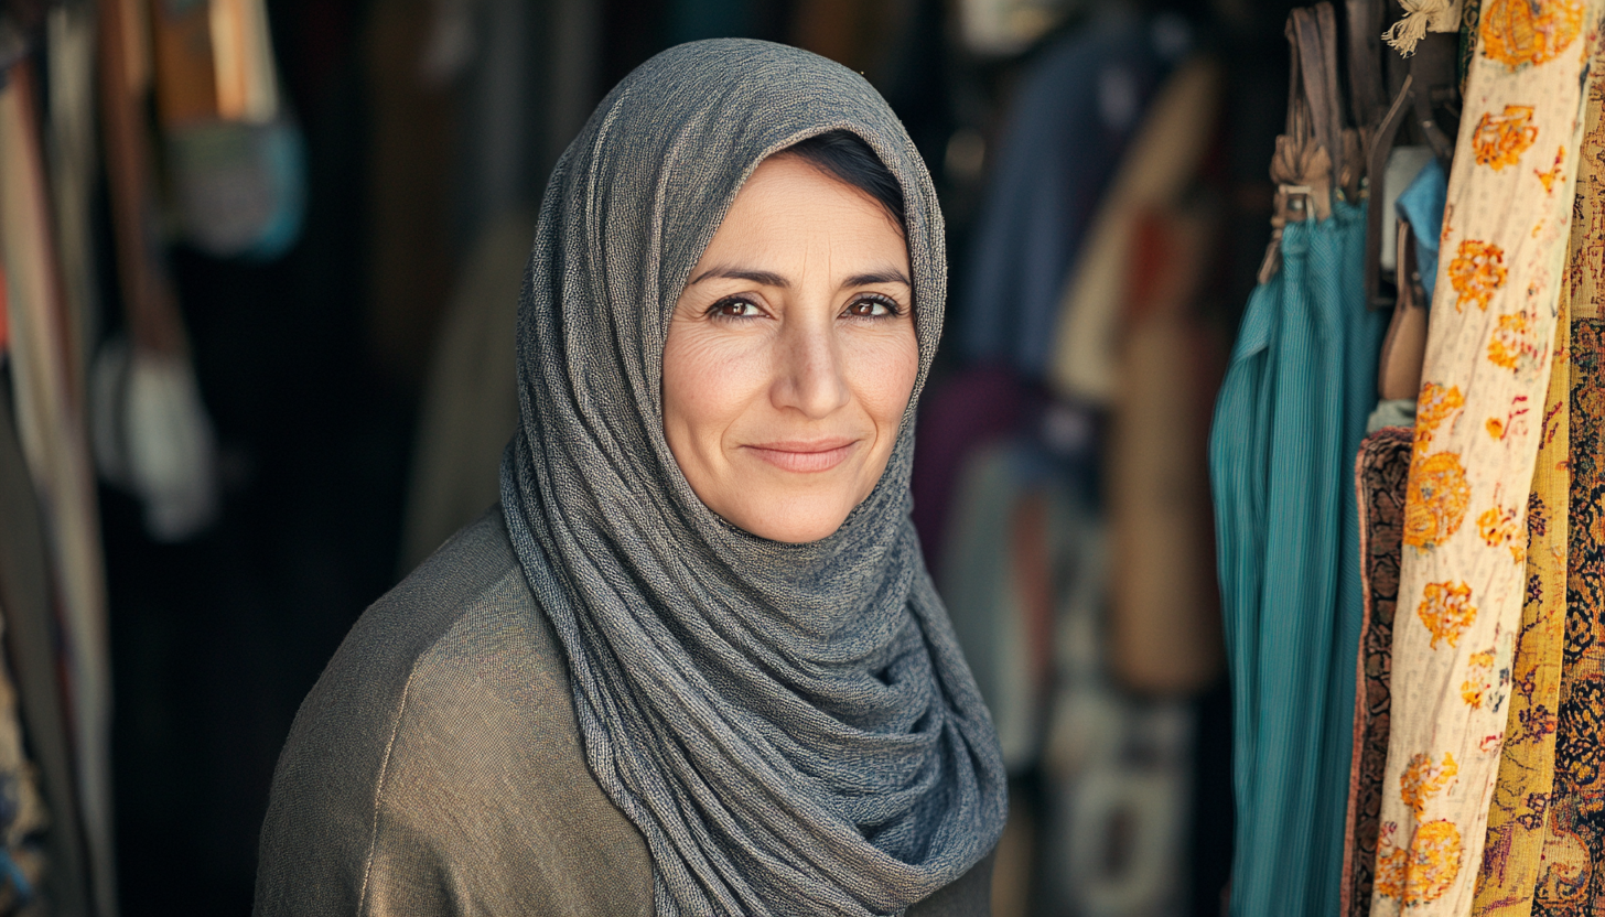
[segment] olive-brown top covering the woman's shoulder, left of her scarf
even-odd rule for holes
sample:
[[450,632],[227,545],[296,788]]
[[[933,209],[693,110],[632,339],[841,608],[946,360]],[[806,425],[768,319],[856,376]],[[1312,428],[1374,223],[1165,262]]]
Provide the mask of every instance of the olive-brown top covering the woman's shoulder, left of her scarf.
[[446,890],[502,901],[493,914],[652,901],[645,843],[586,766],[499,509],[369,607],[307,697],[273,779],[257,912],[453,912]]

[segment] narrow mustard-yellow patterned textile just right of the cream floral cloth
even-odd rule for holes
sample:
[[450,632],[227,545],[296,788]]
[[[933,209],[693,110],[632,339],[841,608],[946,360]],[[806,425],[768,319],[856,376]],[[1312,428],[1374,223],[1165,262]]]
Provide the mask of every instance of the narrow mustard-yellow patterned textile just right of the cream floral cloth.
[[[1571,368],[1562,279],[1555,355],[1544,395],[1538,467],[1526,501],[1526,599],[1515,636],[1510,715],[1505,719],[1499,780],[1488,809],[1488,840],[1477,877],[1473,917],[1528,917],[1544,853],[1544,809],[1555,782],[1555,700],[1566,620],[1566,450]],[[1470,687],[1469,691],[1477,691]]]

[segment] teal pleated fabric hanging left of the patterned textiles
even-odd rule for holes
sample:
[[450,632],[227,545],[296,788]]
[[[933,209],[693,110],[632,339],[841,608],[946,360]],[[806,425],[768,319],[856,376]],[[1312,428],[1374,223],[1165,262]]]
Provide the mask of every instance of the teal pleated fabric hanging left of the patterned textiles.
[[1332,914],[1343,864],[1359,644],[1353,466],[1382,315],[1363,292],[1364,207],[1289,223],[1215,406],[1210,479],[1233,683],[1233,917]]

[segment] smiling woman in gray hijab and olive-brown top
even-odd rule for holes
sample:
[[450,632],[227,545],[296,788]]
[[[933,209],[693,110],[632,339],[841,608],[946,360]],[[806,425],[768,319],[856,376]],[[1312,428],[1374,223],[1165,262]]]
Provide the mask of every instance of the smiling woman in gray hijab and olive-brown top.
[[257,914],[987,914],[1005,776],[908,520],[944,270],[859,75],[626,77],[541,207],[501,506],[302,705]]

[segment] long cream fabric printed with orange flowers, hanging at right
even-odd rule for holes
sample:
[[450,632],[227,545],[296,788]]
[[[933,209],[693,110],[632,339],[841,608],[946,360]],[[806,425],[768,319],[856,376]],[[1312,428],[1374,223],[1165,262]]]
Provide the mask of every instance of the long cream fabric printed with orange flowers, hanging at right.
[[[1526,594],[1526,496],[1600,0],[1489,0],[1404,506],[1372,915],[1470,912]],[[1412,612],[1412,613],[1411,613]]]

